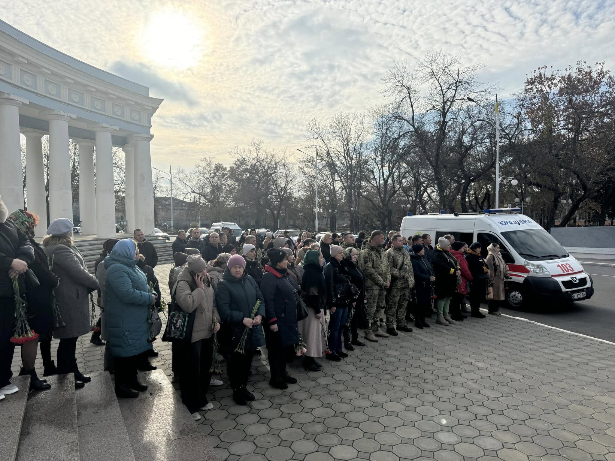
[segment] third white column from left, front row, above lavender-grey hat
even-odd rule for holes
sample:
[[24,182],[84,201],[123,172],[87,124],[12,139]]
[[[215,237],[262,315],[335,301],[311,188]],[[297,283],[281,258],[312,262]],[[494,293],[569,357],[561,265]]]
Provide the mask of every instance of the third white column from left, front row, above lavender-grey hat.
[[42,115],[49,120],[49,220],[73,219],[68,120],[76,117],[62,111]]

